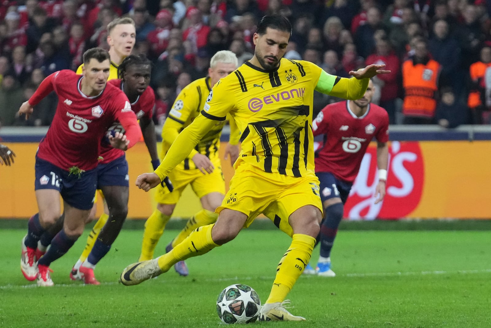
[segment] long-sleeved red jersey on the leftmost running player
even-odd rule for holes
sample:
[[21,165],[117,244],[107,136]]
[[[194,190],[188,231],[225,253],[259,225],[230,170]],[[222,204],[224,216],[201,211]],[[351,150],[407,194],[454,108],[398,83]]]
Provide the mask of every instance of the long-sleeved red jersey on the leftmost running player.
[[[37,156],[67,171],[72,166],[85,171],[97,167],[101,139],[115,120],[124,122],[132,132],[133,125],[136,126],[140,134],[132,138],[141,136],[135,113],[123,91],[108,84],[99,95],[87,97],[81,91],[81,80],[82,75],[68,69],[55,72],[29,99],[34,106],[53,90],[58,95],[55,117],[39,144]],[[137,140],[132,141],[128,148]]]

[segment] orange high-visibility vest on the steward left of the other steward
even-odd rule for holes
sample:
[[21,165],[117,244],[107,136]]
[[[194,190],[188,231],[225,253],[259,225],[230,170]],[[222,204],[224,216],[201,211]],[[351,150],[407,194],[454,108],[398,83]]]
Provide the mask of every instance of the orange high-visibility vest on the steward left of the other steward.
[[432,59],[426,64],[414,65],[412,60],[406,60],[403,63],[404,115],[426,118],[434,116],[439,73],[440,64]]

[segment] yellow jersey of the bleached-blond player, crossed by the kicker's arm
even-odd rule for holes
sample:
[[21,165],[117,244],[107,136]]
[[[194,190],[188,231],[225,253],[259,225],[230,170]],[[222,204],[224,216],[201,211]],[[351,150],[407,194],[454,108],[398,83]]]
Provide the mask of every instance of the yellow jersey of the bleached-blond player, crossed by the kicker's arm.
[[[203,110],[203,106],[205,105],[210,90],[211,86],[209,77],[195,80],[181,90],[176,100],[174,101],[174,105],[172,106],[167,118],[182,124],[179,132],[190,125],[191,122]],[[162,142],[162,155],[166,154],[167,150],[171,146],[169,143],[165,142],[164,138],[164,134],[166,133],[166,123],[164,123],[164,128],[162,129],[162,136],[164,139],[164,141]],[[169,123],[172,122],[168,122],[167,124]],[[224,124],[225,121],[217,121],[215,126],[210,131],[208,131],[208,133],[194,148],[199,153],[210,158],[210,160],[214,164],[218,165],[218,148],[220,146],[220,135]],[[185,170],[196,169],[196,166],[194,165],[190,157],[182,161],[178,165],[178,167]]]

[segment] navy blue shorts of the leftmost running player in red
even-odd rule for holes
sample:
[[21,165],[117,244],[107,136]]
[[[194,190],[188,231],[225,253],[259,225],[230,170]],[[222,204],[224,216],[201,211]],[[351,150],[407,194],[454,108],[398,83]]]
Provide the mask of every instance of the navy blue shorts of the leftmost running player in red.
[[34,190],[55,189],[68,205],[76,209],[92,209],[97,185],[95,169],[80,175],[71,174],[36,157]]

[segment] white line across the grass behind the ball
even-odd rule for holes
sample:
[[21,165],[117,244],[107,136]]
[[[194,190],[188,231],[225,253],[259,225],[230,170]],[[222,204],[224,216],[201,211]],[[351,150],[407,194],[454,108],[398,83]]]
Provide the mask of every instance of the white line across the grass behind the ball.
[[[346,274],[338,274],[338,277],[397,277],[397,276],[411,276],[411,275],[440,275],[440,274],[476,274],[476,273],[491,273],[491,269],[481,269],[481,270],[457,270],[457,271],[444,271],[444,270],[436,270],[436,271],[409,271],[409,272],[373,272],[373,273],[346,273]],[[312,278],[316,277],[316,275],[302,275],[302,277]],[[229,278],[214,278],[214,279],[200,279],[198,278],[198,282],[221,282],[221,281],[244,281],[244,280],[252,280],[252,279],[260,279],[260,280],[273,280],[274,276],[261,276],[261,277],[229,277]],[[170,281],[159,279],[162,283],[167,283]],[[110,286],[116,285],[119,282],[109,281],[109,282],[101,282],[100,286]],[[12,285],[8,284],[5,286],[0,286],[0,290],[8,290],[8,289],[27,289],[27,288],[36,288],[38,287],[36,283],[30,285]],[[85,287],[85,284],[55,284],[52,288],[62,288],[62,287]]]

